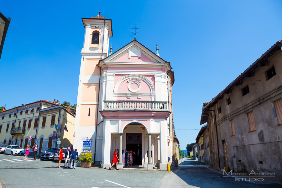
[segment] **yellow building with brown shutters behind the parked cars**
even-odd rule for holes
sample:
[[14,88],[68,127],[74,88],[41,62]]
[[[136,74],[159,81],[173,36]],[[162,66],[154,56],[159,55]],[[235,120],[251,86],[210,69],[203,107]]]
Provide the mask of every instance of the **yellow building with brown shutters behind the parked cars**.
[[[0,112],[0,144],[39,146],[39,152],[47,148],[73,145],[76,109],[54,102],[39,100]],[[55,129],[61,126],[61,132]],[[64,131],[67,124],[68,132]],[[55,132],[55,139],[52,139]],[[29,137],[32,137],[29,140]],[[60,144],[58,144],[58,141]]]

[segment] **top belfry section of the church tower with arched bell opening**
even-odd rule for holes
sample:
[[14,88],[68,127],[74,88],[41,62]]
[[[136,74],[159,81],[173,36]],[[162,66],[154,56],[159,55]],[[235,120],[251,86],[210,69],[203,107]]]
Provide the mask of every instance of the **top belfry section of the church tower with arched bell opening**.
[[85,28],[81,55],[106,58],[109,51],[109,39],[112,37],[112,19],[102,17],[100,11],[96,17],[81,19]]

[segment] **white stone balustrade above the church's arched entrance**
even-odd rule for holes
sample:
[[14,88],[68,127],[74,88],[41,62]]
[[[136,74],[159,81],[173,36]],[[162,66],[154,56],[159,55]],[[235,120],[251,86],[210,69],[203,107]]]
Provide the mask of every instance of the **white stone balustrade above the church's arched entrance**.
[[167,102],[159,101],[104,101],[105,110],[159,110],[167,111]]

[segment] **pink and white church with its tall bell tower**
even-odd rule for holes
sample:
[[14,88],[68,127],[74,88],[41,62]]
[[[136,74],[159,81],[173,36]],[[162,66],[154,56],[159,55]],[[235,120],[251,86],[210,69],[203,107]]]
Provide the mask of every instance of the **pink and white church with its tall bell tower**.
[[[175,154],[172,117],[174,72],[135,38],[112,53],[112,20],[99,13],[82,18],[85,27],[77,97],[74,147],[83,140],[96,164],[109,168],[113,150],[136,153],[133,165],[166,170]],[[137,158],[139,149],[140,158]],[[177,151],[178,152],[178,151]],[[120,158],[121,159],[121,158]],[[123,168],[121,161],[118,167]]]

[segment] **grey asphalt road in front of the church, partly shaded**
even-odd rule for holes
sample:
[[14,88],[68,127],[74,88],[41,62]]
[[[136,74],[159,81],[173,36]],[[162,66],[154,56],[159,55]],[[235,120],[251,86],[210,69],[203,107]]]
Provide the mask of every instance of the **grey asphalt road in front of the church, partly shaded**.
[[[31,158],[29,158],[31,159]],[[0,154],[0,181],[4,188],[60,187],[279,187],[270,183],[255,184],[235,182],[233,177],[209,169],[196,161],[185,159],[181,166],[171,172],[147,170],[105,170],[101,168],[61,169],[53,161],[29,160],[23,156]],[[282,187],[282,186],[281,186]]]

